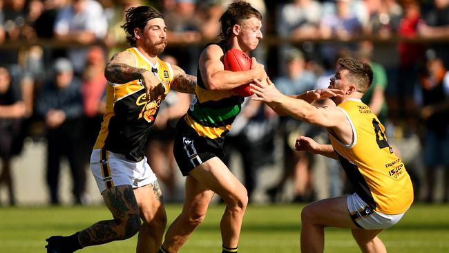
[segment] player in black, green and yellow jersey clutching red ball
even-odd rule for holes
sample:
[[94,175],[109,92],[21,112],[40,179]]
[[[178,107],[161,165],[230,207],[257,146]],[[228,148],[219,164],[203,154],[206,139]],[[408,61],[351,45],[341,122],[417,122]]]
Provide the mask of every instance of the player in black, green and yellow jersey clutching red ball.
[[214,194],[226,203],[220,223],[222,252],[237,252],[242,218],[248,203],[245,186],[222,162],[223,140],[241,110],[244,97],[232,88],[266,77],[252,59],[248,71],[225,71],[222,59],[230,48],[249,54],[262,39],[262,17],[245,1],[234,1],[220,18],[222,41],[200,55],[198,86],[189,111],[176,127],[174,155],[186,177],[184,208],[166,232],[160,252],[178,252],[202,223]]

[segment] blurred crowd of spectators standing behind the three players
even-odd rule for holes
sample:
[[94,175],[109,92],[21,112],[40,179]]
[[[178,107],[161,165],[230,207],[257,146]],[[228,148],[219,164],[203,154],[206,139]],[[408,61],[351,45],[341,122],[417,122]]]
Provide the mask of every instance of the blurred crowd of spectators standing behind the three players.
[[[23,141],[47,144],[49,203],[60,199],[61,159],[73,179],[73,201],[88,203],[86,167],[104,112],[104,66],[127,47],[124,12],[155,6],[164,14],[169,45],[161,57],[196,75],[198,57],[217,41],[218,19],[231,0],[0,0],[0,187],[15,204],[11,158]],[[449,0],[251,0],[263,15],[264,39],[254,57],[280,91],[297,94],[327,88],[338,57],[369,63],[374,81],[364,102],[387,129],[390,142],[406,149],[415,194],[429,203],[448,202],[449,190]],[[189,106],[189,95],[170,93],[164,101],[147,147],[147,156],[168,199],[175,194],[173,127]],[[328,101],[323,101],[327,103]],[[288,201],[318,198],[313,182],[314,156],[294,151],[296,135],[327,141],[326,134],[292,118],[278,117],[266,106],[245,100],[229,133],[227,162],[240,153],[250,194],[260,185],[265,166],[283,167],[283,176],[265,189],[279,201],[285,182],[294,182]],[[404,144],[405,143],[405,144]],[[280,155],[278,156],[278,153]],[[407,158],[410,157],[410,158]],[[325,162],[329,195],[345,189],[336,162]],[[443,193],[434,191],[443,168]],[[424,171],[424,174],[413,171]],[[316,186],[318,185],[318,186]],[[426,185],[425,189],[421,187]]]

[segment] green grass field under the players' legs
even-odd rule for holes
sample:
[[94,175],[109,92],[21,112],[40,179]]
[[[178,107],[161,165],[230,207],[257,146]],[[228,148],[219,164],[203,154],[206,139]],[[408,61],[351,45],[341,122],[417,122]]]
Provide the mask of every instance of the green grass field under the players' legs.
[[[303,205],[249,206],[240,236],[240,252],[300,252],[300,210]],[[219,223],[222,205],[212,205],[206,221],[180,252],[221,252]],[[169,223],[181,205],[166,205]],[[0,252],[45,252],[45,238],[73,234],[96,221],[109,219],[106,207],[0,207]],[[136,236],[126,241],[87,247],[80,252],[135,252]],[[413,205],[381,238],[388,252],[449,252],[449,205]],[[359,252],[346,229],[325,230],[325,252]]]

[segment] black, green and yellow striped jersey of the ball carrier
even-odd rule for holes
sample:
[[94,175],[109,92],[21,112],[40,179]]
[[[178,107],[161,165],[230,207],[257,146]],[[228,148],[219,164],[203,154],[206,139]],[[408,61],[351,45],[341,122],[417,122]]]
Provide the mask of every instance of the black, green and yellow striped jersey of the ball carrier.
[[[218,46],[225,54],[229,45],[220,41]],[[195,97],[184,120],[198,135],[221,142],[225,134],[231,129],[231,124],[242,110],[243,97],[231,95],[230,91],[209,91],[201,78],[198,68],[198,85]]]

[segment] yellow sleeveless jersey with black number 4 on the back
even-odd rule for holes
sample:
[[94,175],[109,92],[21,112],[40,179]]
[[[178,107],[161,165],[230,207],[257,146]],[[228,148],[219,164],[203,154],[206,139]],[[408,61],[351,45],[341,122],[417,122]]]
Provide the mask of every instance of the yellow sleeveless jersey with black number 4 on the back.
[[356,193],[384,214],[401,214],[413,202],[413,187],[405,166],[387,142],[385,127],[361,100],[338,104],[354,133],[352,144],[343,144],[332,133],[329,139]]

